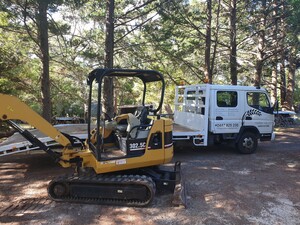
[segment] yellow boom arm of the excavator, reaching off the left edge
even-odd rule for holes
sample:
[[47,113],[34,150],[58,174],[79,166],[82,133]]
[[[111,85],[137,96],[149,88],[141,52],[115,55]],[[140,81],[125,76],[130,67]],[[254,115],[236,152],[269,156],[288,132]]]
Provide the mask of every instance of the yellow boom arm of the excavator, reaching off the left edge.
[[38,113],[33,111],[29,106],[21,102],[18,98],[10,95],[0,94],[0,105],[0,120],[25,121],[46,136],[51,137],[62,146],[65,147],[71,145],[67,137],[65,137]]

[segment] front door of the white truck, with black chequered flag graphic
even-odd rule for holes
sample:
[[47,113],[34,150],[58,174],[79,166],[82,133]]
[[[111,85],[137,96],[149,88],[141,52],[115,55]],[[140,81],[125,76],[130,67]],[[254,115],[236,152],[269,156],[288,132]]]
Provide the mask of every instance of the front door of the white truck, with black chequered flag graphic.
[[254,126],[261,134],[271,134],[274,115],[269,98],[262,91],[247,91],[243,126]]

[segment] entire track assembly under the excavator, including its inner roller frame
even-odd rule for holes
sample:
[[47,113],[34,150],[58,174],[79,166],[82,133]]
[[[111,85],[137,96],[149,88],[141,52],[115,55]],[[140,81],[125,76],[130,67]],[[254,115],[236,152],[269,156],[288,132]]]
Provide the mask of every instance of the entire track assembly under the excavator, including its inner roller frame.
[[54,201],[136,207],[149,205],[155,190],[152,179],[140,175],[63,176],[48,186]]

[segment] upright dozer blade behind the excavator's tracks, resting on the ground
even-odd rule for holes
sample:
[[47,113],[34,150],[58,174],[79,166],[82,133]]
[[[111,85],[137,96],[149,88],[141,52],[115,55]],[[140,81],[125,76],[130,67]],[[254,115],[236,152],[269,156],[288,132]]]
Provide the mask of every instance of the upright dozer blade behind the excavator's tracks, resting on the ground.
[[175,172],[176,172],[176,185],[173,193],[172,204],[174,206],[184,206],[187,207],[186,202],[186,188],[183,176],[181,174],[181,162],[175,163]]

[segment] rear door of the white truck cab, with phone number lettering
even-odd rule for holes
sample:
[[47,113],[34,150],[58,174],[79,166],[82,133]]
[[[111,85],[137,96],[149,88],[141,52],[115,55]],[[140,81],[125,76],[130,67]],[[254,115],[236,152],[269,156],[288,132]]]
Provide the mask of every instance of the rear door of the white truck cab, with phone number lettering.
[[241,91],[215,90],[211,98],[210,131],[215,134],[238,133],[244,107]]

